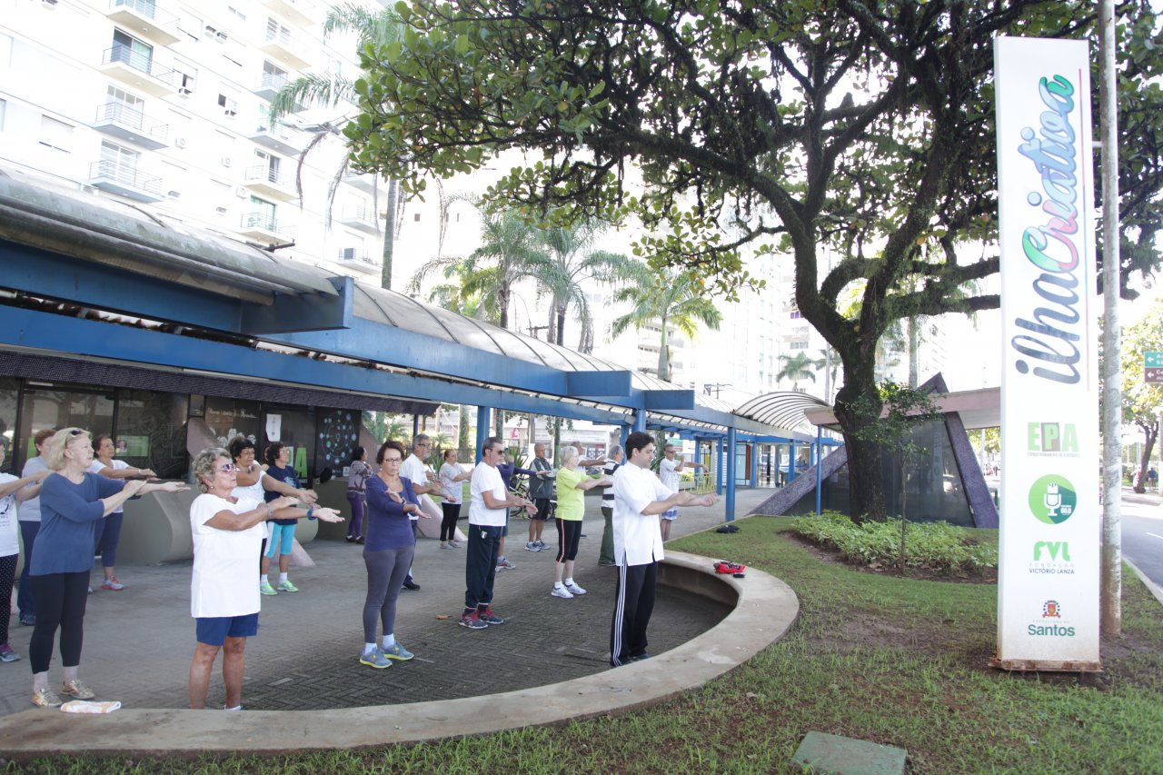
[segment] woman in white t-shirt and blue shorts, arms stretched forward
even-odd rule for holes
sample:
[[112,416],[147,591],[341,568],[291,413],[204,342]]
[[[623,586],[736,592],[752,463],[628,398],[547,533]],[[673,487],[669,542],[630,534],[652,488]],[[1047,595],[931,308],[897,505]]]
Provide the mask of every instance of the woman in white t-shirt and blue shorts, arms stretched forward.
[[221,448],[204,449],[194,458],[194,481],[202,495],[190,505],[194,539],[194,571],[190,584],[190,613],[197,623],[198,645],[190,663],[190,706],[206,706],[211,673],[222,652],[223,710],[242,710],[242,675],[247,638],[258,633],[262,598],[255,583],[255,549],[266,535],[267,519],[317,517],[324,522],[343,518],[334,509],[298,509],[294,497],[236,497],[237,469]]

